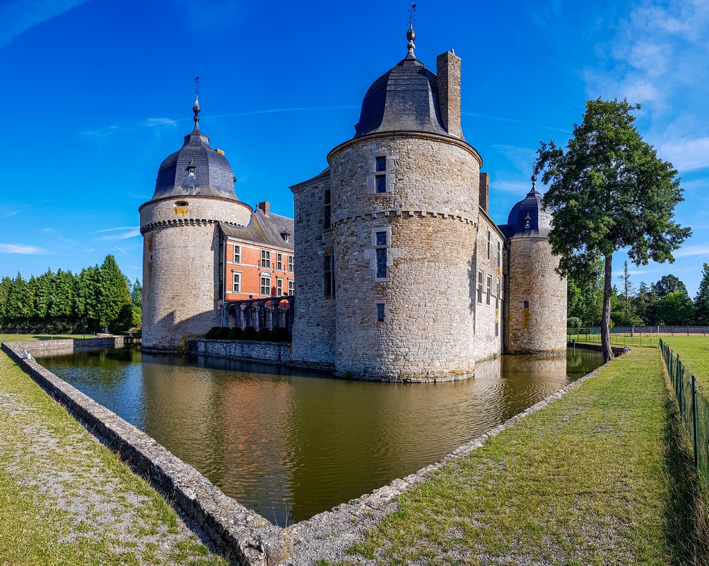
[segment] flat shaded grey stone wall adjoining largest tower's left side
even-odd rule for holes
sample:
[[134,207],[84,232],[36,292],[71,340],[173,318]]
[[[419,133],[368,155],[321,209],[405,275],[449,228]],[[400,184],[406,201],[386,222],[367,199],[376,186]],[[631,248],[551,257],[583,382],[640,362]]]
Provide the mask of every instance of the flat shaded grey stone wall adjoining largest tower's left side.
[[[333,363],[335,298],[325,297],[323,261],[333,254],[333,230],[325,229],[327,175],[295,186],[296,303],[293,321],[294,361]],[[332,205],[330,205],[332,207]],[[335,285],[339,283],[335,281]]]

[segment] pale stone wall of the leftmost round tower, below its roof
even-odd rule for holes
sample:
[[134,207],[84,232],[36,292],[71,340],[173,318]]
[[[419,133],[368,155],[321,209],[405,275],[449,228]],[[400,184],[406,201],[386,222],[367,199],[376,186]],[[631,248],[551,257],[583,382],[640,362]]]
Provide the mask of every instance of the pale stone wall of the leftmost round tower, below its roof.
[[247,223],[238,201],[188,197],[140,209],[143,234],[143,348],[186,350],[186,338],[220,324],[220,230]]

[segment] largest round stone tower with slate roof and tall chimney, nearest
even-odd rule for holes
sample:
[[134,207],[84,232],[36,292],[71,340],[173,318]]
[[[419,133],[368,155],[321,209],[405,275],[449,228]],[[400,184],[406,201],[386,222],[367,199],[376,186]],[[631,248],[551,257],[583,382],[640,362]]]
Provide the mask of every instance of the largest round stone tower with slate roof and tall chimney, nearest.
[[[474,372],[481,159],[464,139],[460,59],[437,75],[408,55],[364,96],[352,140],[328,155],[335,373],[445,380]],[[327,263],[328,258],[325,258]]]

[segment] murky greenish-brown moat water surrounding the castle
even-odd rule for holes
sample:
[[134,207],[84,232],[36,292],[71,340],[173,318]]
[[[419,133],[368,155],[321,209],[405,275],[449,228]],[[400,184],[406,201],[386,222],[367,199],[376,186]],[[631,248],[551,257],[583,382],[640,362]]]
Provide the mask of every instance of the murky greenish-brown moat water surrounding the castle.
[[284,526],[435,462],[602,360],[502,356],[474,380],[414,385],[133,349],[41,363]]

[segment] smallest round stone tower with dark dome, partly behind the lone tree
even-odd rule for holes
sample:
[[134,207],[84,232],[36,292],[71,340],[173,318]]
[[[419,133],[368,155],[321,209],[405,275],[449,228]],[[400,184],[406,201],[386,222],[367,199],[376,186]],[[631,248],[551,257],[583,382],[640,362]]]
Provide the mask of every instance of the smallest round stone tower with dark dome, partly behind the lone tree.
[[506,228],[505,353],[566,353],[566,278],[555,269],[552,213],[532,190],[510,211]]

